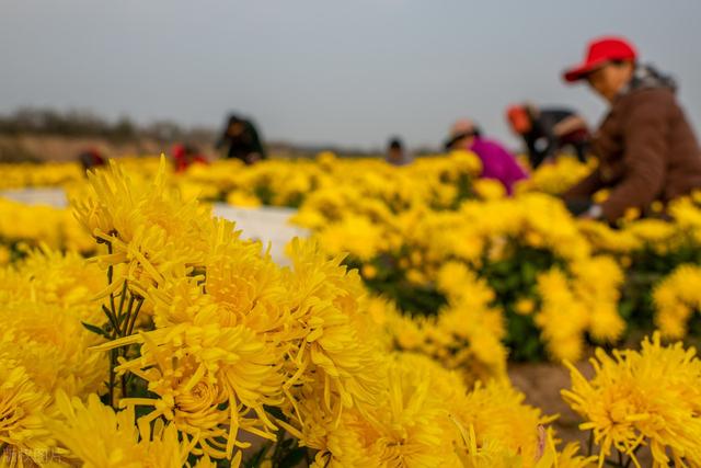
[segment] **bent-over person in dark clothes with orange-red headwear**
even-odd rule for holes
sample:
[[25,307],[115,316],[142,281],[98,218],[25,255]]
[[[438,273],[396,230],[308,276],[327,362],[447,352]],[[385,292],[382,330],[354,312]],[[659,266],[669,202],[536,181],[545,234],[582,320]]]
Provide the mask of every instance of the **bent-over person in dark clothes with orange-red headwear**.
[[507,109],[506,119],[512,130],[522,138],[532,169],[545,160],[554,160],[565,147],[572,147],[577,159],[586,161],[589,130],[574,111],[515,104]]

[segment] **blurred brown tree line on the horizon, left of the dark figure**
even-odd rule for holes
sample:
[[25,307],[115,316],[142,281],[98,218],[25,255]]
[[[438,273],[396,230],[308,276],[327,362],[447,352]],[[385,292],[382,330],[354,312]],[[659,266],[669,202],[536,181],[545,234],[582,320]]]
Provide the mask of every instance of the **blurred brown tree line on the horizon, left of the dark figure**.
[[9,115],[0,115],[0,135],[21,134],[99,137],[114,142],[152,139],[204,144],[215,138],[215,132],[209,128],[185,128],[171,121],[138,125],[128,117],[110,122],[90,111],[21,107]]

